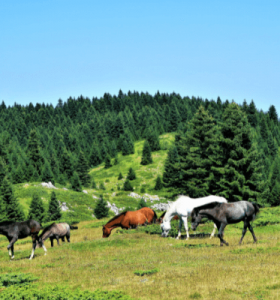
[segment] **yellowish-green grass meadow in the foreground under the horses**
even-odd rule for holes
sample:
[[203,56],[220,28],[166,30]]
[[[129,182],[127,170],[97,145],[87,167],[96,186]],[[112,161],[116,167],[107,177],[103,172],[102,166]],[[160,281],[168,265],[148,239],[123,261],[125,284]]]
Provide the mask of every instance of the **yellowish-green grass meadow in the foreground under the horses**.
[[[7,240],[0,238],[1,273],[32,273],[41,286],[69,285],[86,290],[119,290],[135,299],[280,299],[280,225],[256,227],[238,246],[239,226],[229,225],[220,247],[218,238],[175,240],[139,230],[117,232],[103,239],[106,220],[80,223],[71,243],[37,249],[32,261],[31,239],[15,244],[10,261]],[[198,231],[210,233],[212,224]],[[192,232],[191,232],[192,233]],[[1,294],[0,294],[1,298]]]

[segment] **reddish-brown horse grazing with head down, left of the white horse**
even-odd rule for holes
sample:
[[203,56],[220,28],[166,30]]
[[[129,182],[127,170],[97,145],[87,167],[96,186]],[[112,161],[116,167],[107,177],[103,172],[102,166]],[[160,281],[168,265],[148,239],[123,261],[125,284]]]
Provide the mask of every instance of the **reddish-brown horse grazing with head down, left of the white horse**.
[[143,207],[136,211],[125,211],[103,226],[103,237],[109,237],[114,228],[136,228],[138,225],[155,223],[156,219],[156,212],[149,207]]

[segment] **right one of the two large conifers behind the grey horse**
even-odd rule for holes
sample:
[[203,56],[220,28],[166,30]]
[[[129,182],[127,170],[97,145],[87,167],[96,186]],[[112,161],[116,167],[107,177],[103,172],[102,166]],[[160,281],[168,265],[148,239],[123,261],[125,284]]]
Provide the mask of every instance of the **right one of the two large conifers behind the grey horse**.
[[245,113],[236,103],[227,106],[221,124],[223,152],[220,195],[229,201],[256,201],[262,186],[262,166]]

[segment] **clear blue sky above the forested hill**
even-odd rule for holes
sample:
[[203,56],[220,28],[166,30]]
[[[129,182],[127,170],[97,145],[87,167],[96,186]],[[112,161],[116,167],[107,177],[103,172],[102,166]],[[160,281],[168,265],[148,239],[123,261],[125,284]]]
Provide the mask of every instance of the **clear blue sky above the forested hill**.
[[280,116],[280,1],[0,0],[0,101],[173,91]]

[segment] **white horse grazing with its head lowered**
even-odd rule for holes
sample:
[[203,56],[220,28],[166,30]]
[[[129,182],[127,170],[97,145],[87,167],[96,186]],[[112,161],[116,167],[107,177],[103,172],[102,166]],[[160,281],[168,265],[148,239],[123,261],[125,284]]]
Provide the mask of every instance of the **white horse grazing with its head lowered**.
[[[181,236],[181,227],[182,223],[184,223],[186,232],[187,232],[187,240],[189,239],[189,230],[188,230],[188,217],[191,216],[191,212],[195,207],[202,206],[204,204],[208,204],[211,202],[220,202],[220,203],[227,203],[227,200],[223,197],[219,196],[207,196],[203,198],[196,198],[192,199],[187,196],[179,196],[179,198],[171,204],[169,209],[167,210],[162,224],[160,225],[161,230],[162,230],[162,237],[167,237],[168,233],[171,229],[171,224],[170,221],[175,215],[178,215],[180,217],[180,222],[179,222],[179,232],[178,236],[176,239],[179,239]],[[215,230],[216,230],[216,225],[214,224],[214,229],[213,232],[210,236],[210,239],[214,236]]]

